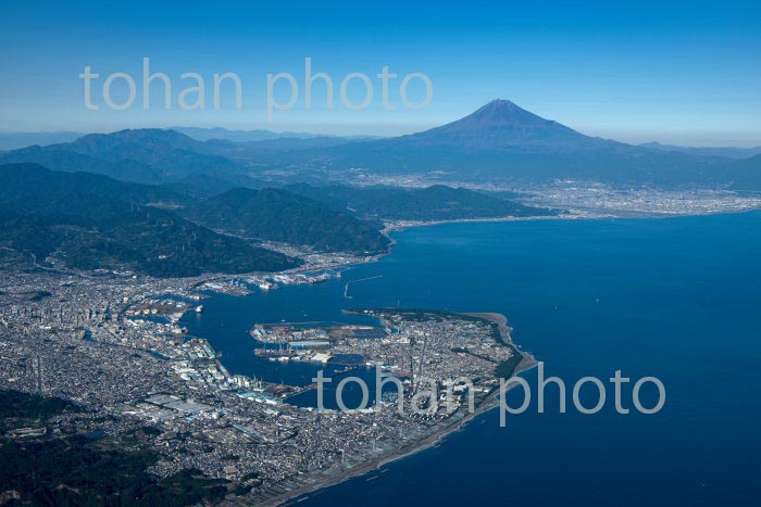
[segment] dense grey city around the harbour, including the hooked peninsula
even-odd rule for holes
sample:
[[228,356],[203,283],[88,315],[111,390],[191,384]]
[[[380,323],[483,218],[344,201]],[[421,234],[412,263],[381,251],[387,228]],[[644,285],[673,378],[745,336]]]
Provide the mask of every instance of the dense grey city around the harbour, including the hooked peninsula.
[[[464,419],[471,395],[477,405],[484,402],[499,384],[500,364],[522,357],[509,328],[483,316],[359,310],[376,318],[377,327],[291,330],[286,338],[280,329],[274,347],[272,329],[252,334],[270,342],[258,352],[322,365],[336,360],[344,371],[377,367],[401,379],[399,390],[383,390],[375,409],[319,409],[289,403],[314,385],[230,375],[207,340],[180,326],[182,316],[203,312],[203,300],[214,292],[244,295],[336,276],[7,274],[0,287],[0,389],[62,398],[78,409],[23,421],[7,428],[4,438],[84,434],[122,449],[149,448],[160,456],[150,467],[159,478],[199,470],[236,485],[228,500],[267,502],[421,445]],[[454,385],[463,377],[474,384]],[[424,379],[434,379],[433,386]],[[410,410],[411,403],[419,410]],[[142,429],[138,439],[136,428]]]

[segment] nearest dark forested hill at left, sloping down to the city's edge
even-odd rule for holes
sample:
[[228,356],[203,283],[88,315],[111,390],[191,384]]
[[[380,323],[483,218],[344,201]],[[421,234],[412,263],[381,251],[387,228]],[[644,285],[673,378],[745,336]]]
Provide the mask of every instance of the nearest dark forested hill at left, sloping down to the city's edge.
[[154,187],[33,164],[0,166],[0,263],[78,269],[128,269],[160,277],[282,270],[283,254],[220,235],[170,210]]

